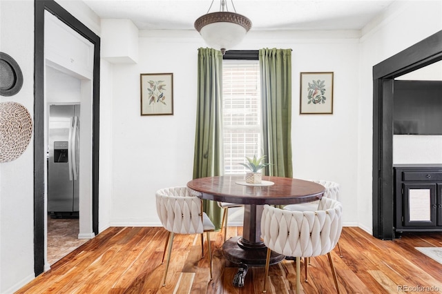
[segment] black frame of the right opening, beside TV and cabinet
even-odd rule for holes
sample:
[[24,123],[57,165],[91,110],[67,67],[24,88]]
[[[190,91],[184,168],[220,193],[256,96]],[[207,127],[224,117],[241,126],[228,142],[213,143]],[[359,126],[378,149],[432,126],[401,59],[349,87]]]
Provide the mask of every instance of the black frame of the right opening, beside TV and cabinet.
[[442,30],[373,67],[373,235],[394,239],[394,78],[442,60]]

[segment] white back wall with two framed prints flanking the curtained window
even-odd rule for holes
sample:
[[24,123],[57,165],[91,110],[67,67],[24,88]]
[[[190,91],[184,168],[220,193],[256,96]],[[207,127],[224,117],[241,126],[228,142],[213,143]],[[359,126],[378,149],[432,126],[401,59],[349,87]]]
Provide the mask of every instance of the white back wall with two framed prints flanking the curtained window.
[[[155,191],[185,185],[192,178],[197,49],[205,44],[196,32],[144,31],[140,35],[139,62],[113,65],[112,226],[160,225]],[[356,225],[352,191],[357,175],[358,39],[354,32],[330,39],[302,34],[268,37],[268,33],[250,35],[238,49],[293,49],[294,175],[339,182],[344,222]],[[315,71],[334,72],[333,115],[299,115],[300,72]],[[140,73],[159,72],[173,72],[174,115],[141,116]]]

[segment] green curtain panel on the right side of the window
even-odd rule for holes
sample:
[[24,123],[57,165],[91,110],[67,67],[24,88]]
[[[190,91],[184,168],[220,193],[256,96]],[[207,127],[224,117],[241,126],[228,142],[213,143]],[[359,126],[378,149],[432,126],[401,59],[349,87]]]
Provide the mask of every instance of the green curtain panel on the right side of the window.
[[291,49],[260,49],[262,146],[266,174],[293,177],[291,162]]

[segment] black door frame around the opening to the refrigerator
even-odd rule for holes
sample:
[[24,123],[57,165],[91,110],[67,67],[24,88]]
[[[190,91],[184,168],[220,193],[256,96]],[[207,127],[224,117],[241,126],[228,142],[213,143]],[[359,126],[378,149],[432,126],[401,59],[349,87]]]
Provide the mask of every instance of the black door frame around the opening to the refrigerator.
[[99,61],[100,39],[83,23],[53,0],[35,0],[34,57],[34,271],[44,272],[44,12],[48,10],[94,44],[93,68],[93,159],[92,159],[92,228],[98,234],[98,164],[99,164]]

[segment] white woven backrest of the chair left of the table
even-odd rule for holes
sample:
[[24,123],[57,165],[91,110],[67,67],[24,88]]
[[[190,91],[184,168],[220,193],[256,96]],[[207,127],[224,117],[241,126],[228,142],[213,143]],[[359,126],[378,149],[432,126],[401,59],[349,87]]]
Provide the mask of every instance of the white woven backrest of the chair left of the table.
[[186,186],[157,190],[157,213],[167,231],[178,234],[204,232],[202,200],[198,193]]

